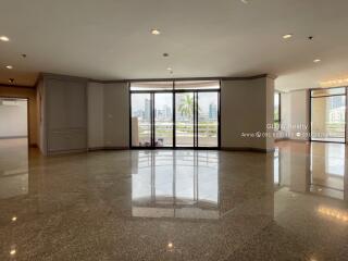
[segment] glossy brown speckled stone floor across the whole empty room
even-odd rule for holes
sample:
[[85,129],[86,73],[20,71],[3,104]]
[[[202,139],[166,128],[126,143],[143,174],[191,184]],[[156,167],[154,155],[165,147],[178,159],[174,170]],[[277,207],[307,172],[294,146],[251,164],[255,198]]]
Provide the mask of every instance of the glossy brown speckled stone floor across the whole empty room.
[[0,140],[0,260],[348,260],[346,146],[45,158]]

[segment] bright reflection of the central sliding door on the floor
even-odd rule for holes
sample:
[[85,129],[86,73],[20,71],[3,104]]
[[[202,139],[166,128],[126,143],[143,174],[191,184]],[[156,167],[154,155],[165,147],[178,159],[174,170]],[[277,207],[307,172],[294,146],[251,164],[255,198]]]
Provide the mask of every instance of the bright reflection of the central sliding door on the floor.
[[219,219],[217,152],[135,153],[133,216]]

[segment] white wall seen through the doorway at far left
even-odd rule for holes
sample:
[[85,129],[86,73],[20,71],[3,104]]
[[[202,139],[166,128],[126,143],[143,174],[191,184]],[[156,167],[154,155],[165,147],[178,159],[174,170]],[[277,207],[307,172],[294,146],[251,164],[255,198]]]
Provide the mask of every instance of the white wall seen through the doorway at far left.
[[0,138],[27,137],[27,101],[17,100],[16,105],[2,105],[0,100]]

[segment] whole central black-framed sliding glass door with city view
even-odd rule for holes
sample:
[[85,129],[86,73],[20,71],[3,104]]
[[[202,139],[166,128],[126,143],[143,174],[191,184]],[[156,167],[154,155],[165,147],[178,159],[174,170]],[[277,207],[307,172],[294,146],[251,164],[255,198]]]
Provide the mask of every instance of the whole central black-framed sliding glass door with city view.
[[134,148],[219,148],[219,82],[130,85]]

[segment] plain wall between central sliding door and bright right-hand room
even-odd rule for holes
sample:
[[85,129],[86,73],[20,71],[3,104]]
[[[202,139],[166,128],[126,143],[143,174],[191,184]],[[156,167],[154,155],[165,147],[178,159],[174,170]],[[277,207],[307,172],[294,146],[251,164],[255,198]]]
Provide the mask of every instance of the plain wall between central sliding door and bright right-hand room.
[[273,79],[263,77],[246,80],[223,80],[221,86],[221,142],[222,148],[273,149],[273,137],[243,137],[243,133],[258,132],[273,135],[266,129],[274,119]]

